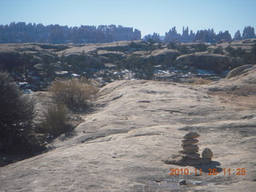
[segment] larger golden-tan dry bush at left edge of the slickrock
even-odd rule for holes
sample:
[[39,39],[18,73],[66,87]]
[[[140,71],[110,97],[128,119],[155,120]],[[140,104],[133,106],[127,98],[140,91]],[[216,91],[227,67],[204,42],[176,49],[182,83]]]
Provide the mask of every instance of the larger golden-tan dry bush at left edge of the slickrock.
[[82,111],[98,93],[98,87],[85,78],[57,79],[52,82],[50,92],[55,102],[65,104],[72,111]]

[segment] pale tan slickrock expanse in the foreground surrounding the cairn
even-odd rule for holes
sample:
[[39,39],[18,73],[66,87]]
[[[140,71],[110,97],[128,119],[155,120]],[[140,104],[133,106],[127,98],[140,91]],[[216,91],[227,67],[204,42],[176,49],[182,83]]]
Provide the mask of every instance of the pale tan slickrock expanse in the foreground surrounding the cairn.
[[[235,81],[243,85],[237,77]],[[219,83],[225,87],[225,82]],[[84,116],[86,122],[73,136],[57,138],[53,150],[46,154],[1,167],[0,190],[254,191],[256,95],[241,95],[252,102],[248,106],[230,102],[223,92],[212,94],[218,83],[213,88],[172,82],[113,82],[102,88],[97,105]],[[205,171],[209,166],[162,162],[165,155],[177,153],[182,136],[190,131],[201,135],[200,146],[214,151],[210,168],[217,167],[217,175],[202,172],[195,176],[195,169]],[[191,174],[170,175],[170,168],[187,168]],[[242,168],[246,174],[236,175]],[[230,169],[230,176],[222,169]],[[186,186],[178,185],[182,179]]]

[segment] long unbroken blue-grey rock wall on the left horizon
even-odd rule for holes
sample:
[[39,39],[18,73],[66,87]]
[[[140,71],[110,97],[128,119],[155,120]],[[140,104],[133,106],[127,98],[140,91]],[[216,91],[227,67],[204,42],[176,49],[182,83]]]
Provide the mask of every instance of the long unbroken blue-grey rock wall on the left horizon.
[[141,31],[124,26],[59,26],[11,22],[0,25],[0,43],[93,43],[134,41],[141,39]]

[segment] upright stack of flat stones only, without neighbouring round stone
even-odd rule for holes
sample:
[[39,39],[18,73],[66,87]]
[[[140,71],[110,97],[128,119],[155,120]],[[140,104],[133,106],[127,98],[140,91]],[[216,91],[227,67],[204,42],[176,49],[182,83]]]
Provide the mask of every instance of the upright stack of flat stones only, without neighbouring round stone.
[[200,154],[198,154],[199,147],[198,145],[194,145],[198,143],[198,138],[200,135],[196,132],[190,132],[186,134],[182,140],[182,148],[183,150],[179,150],[178,153],[182,155],[183,158],[186,159],[199,159]]

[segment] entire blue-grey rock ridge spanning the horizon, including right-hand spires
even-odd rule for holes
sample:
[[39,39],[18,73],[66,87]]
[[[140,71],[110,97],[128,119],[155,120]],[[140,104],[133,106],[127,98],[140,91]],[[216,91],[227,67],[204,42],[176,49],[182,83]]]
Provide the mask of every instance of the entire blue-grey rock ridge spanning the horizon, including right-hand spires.
[[[140,40],[140,30],[125,26],[59,26],[32,24],[26,22],[11,22],[10,25],[0,25],[0,43],[97,43]],[[246,26],[241,34],[238,30],[234,38],[228,30],[218,34],[214,29],[198,30],[194,33],[189,27],[183,27],[182,34],[178,34],[174,26],[165,36],[148,34],[143,39],[153,42],[231,42],[247,38],[256,38],[254,27]]]

